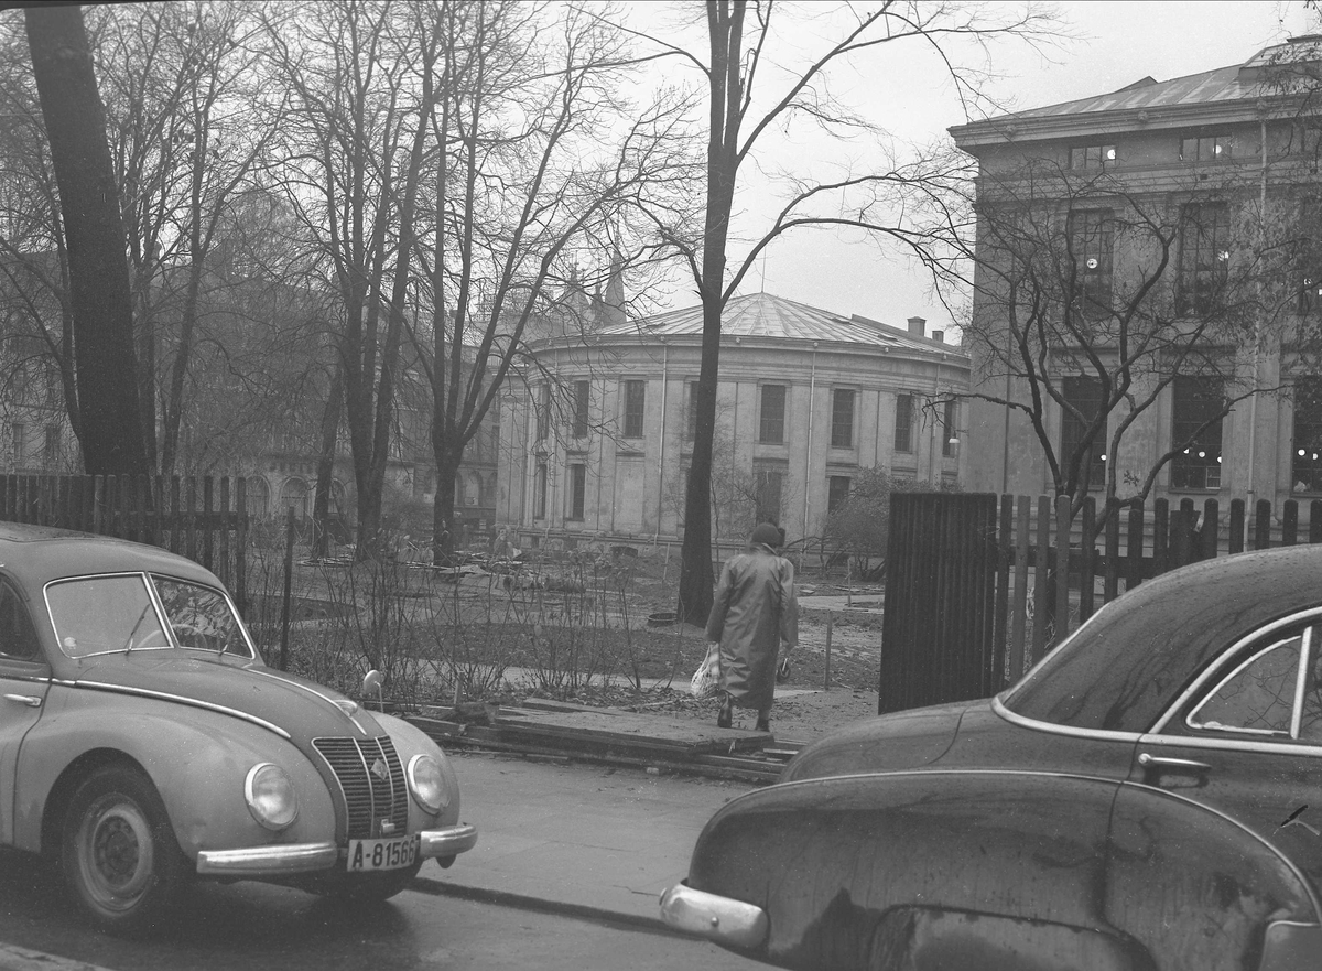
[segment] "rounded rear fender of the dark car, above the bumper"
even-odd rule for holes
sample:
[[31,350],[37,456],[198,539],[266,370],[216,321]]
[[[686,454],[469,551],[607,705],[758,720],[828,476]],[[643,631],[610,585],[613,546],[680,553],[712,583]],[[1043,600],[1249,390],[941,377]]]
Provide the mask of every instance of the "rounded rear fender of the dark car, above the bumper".
[[[969,770],[783,783],[713,816],[689,885],[761,908],[768,934],[751,956],[784,967],[1150,971],[1146,942],[1104,893],[1118,790],[1085,775]],[[1204,831],[1244,848],[1241,829]],[[1241,884],[1260,896],[1253,913],[1311,917],[1306,888],[1278,861],[1240,865],[1256,874]]]

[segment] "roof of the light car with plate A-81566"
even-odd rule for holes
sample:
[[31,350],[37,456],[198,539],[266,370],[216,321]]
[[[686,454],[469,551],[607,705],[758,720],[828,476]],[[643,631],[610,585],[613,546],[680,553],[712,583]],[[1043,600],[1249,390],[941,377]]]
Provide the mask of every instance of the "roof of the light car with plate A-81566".
[[141,570],[221,586],[210,570],[159,546],[20,523],[0,523],[0,568],[34,586],[61,577]]

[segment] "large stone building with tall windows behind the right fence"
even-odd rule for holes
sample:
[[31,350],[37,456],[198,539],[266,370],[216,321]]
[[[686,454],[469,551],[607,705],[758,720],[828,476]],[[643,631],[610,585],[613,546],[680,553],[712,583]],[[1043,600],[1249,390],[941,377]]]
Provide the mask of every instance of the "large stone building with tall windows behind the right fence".
[[[1322,306],[1315,243],[1322,115],[1313,93],[1319,67],[1322,38],[1292,38],[1240,65],[1163,82],[1144,78],[1109,94],[951,130],[980,165],[973,319],[984,321],[986,339],[965,339],[974,393],[1014,401],[1029,394],[1022,373],[1005,364],[1010,355],[1002,357],[1010,311],[995,296],[995,271],[988,269],[994,261],[985,254],[995,246],[988,214],[995,218],[998,200],[1014,192],[1006,187],[1022,189],[1021,173],[1030,169],[1039,177],[1025,212],[1035,209],[1042,225],[1055,220],[1060,266],[1071,282],[1062,306],[1079,312],[1095,304],[1085,328],[1116,327],[1116,308],[1149,280],[1155,287],[1147,308],[1161,308],[1151,311],[1158,320],[1151,327],[1179,324],[1190,335],[1216,314],[1239,323],[1237,331],[1208,328],[1216,336],[1195,348],[1196,365],[1191,357],[1177,366],[1166,351],[1136,373],[1134,401],[1149,393],[1154,401],[1134,409],[1141,413],[1116,455],[1107,454],[1108,435],[1130,405],[1104,421],[1081,463],[1093,472],[1093,489],[1116,463],[1117,480],[1128,483],[1120,495],[1132,492],[1171,455],[1155,478],[1155,497],[1199,504],[1220,497],[1223,505],[1268,499],[1277,508],[1282,499],[1322,497],[1322,370],[1305,344],[1306,324]],[[1134,228],[1140,210],[1151,220],[1146,235]],[[1149,242],[1140,245],[1140,237]],[[1085,307],[1076,319],[1089,319]],[[1083,419],[1097,413],[1099,370],[1080,349],[1060,341],[1044,359],[1073,407],[1046,405],[1056,454],[1077,444]],[[1107,368],[1116,366],[1114,344],[1092,349]],[[1216,417],[1220,402],[1233,405]],[[1021,413],[974,398],[966,421],[960,456],[966,489],[1052,491],[1046,450]]]

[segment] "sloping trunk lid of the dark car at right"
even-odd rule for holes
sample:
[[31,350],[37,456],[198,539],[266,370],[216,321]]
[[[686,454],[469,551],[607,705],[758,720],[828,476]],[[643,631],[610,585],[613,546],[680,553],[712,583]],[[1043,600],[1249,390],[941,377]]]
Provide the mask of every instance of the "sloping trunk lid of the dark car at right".
[[800,751],[785,766],[780,781],[887,773],[931,765],[951,747],[960,718],[974,704],[954,701],[857,722]]

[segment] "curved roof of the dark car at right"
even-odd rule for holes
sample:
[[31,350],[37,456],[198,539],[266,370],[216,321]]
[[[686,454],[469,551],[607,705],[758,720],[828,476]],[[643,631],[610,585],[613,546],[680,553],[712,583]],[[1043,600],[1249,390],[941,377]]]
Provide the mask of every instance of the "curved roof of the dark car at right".
[[1322,545],[1204,560],[1108,603],[1005,696],[1027,717],[1142,732],[1203,665],[1266,623],[1322,606]]

